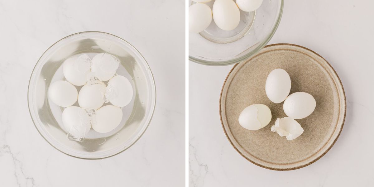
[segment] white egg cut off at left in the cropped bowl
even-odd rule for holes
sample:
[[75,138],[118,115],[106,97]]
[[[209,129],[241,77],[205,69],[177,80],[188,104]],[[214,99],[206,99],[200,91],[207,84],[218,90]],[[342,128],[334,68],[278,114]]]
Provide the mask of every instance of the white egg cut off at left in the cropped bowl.
[[196,3],[188,7],[188,32],[200,33],[212,22],[212,10],[203,3]]

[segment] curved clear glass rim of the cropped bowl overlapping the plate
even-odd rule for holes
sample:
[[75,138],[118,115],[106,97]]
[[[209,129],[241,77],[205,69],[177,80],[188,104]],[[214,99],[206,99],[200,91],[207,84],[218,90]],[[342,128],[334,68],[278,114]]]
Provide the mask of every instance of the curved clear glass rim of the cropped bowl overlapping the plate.
[[258,45],[254,50],[251,50],[250,52],[248,52],[246,55],[243,55],[239,58],[233,58],[233,59],[230,59],[230,60],[226,60],[226,61],[208,61],[208,60],[195,58],[195,57],[190,56],[188,54],[188,60],[192,61],[192,62],[196,62],[198,64],[203,64],[203,65],[224,66],[224,65],[237,64],[237,63],[239,63],[239,62],[241,62],[245,59],[250,58],[252,55],[256,54],[259,50],[261,50],[270,41],[270,39],[272,39],[273,35],[275,34],[275,31],[277,30],[279,22],[281,22],[281,18],[282,18],[283,2],[284,2],[284,0],[281,0],[281,7],[280,7],[280,10],[279,10],[278,19],[276,20],[275,25],[274,25],[272,31],[270,32],[270,34],[266,37],[265,40],[263,40],[263,42],[260,43],[260,45]]

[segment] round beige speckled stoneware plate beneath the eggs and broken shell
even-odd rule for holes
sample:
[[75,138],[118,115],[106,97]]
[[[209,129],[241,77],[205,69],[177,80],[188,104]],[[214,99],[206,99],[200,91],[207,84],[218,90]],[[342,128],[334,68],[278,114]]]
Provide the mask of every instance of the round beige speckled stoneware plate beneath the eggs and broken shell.
[[[304,133],[291,141],[270,131],[278,117],[286,117],[283,102],[275,104],[265,93],[266,78],[276,68],[291,77],[290,94],[307,92],[316,99],[315,111],[297,120]],[[272,121],[257,131],[242,128],[240,112],[258,103],[270,108]],[[292,44],[268,45],[234,65],[221,91],[220,116],[227,138],[243,157],[267,169],[298,169],[320,159],[338,139],[345,115],[346,98],[335,70],[322,56]]]

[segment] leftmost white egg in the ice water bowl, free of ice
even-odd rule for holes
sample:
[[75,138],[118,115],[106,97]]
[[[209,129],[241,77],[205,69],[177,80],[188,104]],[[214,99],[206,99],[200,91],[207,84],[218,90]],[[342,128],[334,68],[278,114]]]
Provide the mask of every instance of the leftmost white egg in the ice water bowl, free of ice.
[[49,86],[48,96],[56,105],[70,107],[77,101],[78,91],[71,83],[58,80]]

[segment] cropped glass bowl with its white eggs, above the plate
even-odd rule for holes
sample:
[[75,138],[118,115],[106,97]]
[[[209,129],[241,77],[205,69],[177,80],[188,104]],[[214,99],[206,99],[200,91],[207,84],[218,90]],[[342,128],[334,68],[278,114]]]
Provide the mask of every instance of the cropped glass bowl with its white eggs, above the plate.
[[272,38],[283,0],[193,0],[188,10],[190,61],[230,65],[248,59]]

